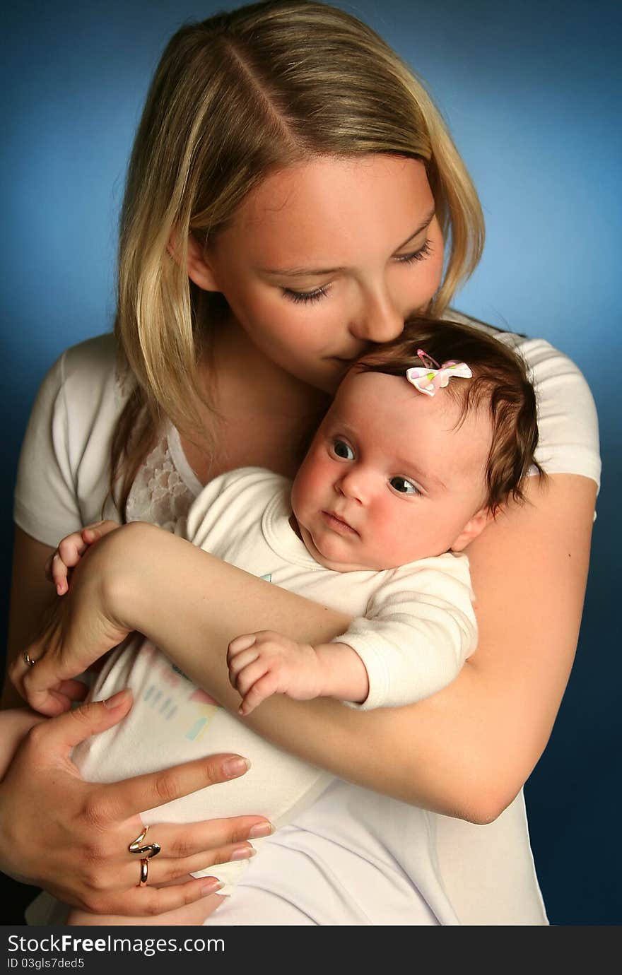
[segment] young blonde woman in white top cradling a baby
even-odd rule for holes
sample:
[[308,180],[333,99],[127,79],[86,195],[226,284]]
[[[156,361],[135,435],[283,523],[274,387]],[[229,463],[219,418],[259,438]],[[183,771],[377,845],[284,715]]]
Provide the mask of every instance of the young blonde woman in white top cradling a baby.
[[[43,565],[62,535],[94,521],[104,501],[117,517],[166,523],[200,484],[242,464],[292,474],[294,445],[348,363],[369,341],[398,334],[410,312],[442,313],[482,240],[477,196],[438,113],[362,23],[322,5],[276,3],[180,31],[156,74],[128,179],[117,334],[130,371],[115,369],[107,338],[70,350],[44,384],[27,436],[16,652],[27,612],[47,600]],[[546,745],[572,661],[598,445],[577,370],[545,342],[520,344],[550,478],[470,546],[477,653],[445,691],[408,708],[363,715],[336,702],[275,699],[253,714],[260,734],[356,785],[337,783],[269,840],[271,856],[253,865],[217,923],[248,923],[247,905],[274,924],[545,923],[515,797]],[[168,422],[156,423],[162,416]],[[110,469],[114,501],[105,497]],[[148,529],[136,527],[144,559]],[[80,578],[91,580],[92,596],[110,597],[114,534],[85,561]],[[223,646],[257,629],[310,641],[341,632],[326,610],[169,541],[164,563],[138,566],[141,597],[126,560],[131,623],[150,628],[232,711],[224,655],[221,680],[208,683],[196,663],[208,627]],[[67,640],[79,633],[85,643],[90,604],[104,649],[122,614],[114,600],[81,603],[84,591],[76,586],[63,608]],[[93,617],[88,625],[93,638]],[[156,910],[154,888],[129,890],[136,819],[130,827],[118,807],[130,799],[119,801],[119,786],[89,792],[68,772],[58,788],[51,755],[76,739],[70,720],[79,722],[39,725],[12,765],[2,865],[100,913]],[[38,823],[36,840],[24,809],[35,776],[41,805],[58,809]],[[127,794],[136,800],[136,787]],[[207,829],[186,850],[199,849]],[[164,852],[178,842],[170,830],[157,838]],[[166,868],[161,860],[150,868],[154,882],[172,876],[170,859]],[[292,877],[295,889],[284,880]],[[197,896],[192,889],[184,896]]]

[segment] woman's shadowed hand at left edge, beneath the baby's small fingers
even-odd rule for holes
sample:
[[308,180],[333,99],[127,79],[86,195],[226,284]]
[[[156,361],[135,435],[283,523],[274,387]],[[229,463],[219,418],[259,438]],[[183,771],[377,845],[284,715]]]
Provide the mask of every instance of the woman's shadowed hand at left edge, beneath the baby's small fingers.
[[19,693],[42,715],[59,715],[81,700],[84,684],[72,679],[134,629],[114,612],[118,565],[110,542],[122,531],[120,527],[88,548],[73,569],[69,591],[43,613],[39,635],[25,649],[36,664],[29,665],[19,654],[10,667]]

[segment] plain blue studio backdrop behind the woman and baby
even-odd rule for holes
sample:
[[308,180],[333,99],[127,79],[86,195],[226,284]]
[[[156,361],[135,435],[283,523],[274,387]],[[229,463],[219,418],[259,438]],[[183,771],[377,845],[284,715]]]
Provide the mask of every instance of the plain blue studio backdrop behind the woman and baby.
[[[112,324],[117,214],[151,73],[182,21],[222,6],[234,5],[24,0],[5,12],[5,594],[19,443],[38,383],[62,349]],[[456,306],[548,338],[580,364],[597,400],[603,488],[581,639],[527,802],[551,920],[620,923],[622,675],[609,580],[621,541],[614,486],[622,7],[616,0],[343,6],[368,20],[426,79],[480,191],[486,254]]]

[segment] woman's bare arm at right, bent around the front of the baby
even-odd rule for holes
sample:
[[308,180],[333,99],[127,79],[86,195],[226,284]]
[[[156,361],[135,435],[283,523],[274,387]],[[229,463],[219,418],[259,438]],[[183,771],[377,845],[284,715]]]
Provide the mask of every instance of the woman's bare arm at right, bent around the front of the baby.
[[[473,543],[480,643],[445,690],[406,708],[366,713],[329,699],[275,696],[245,721],[341,778],[473,822],[494,819],[538,761],[562,700],[581,618],[595,497],[596,485],[584,477],[555,475],[546,487],[531,479],[527,503],[500,516]],[[240,698],[225,660],[233,637],[274,629],[317,643],[347,624],[341,614],[152,526],[126,526],[94,553],[97,548],[99,581],[115,625],[145,633],[234,715]],[[84,643],[77,629],[68,642]],[[32,668],[26,683],[34,686],[44,670],[37,675]]]

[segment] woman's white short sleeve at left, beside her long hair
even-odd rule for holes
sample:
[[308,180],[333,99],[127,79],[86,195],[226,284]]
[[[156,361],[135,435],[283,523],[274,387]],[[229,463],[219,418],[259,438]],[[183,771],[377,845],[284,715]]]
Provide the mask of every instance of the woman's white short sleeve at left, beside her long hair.
[[109,455],[124,402],[112,335],[60,356],[41,384],[19,456],[14,518],[23,531],[56,546],[102,514],[121,520],[109,497]]

